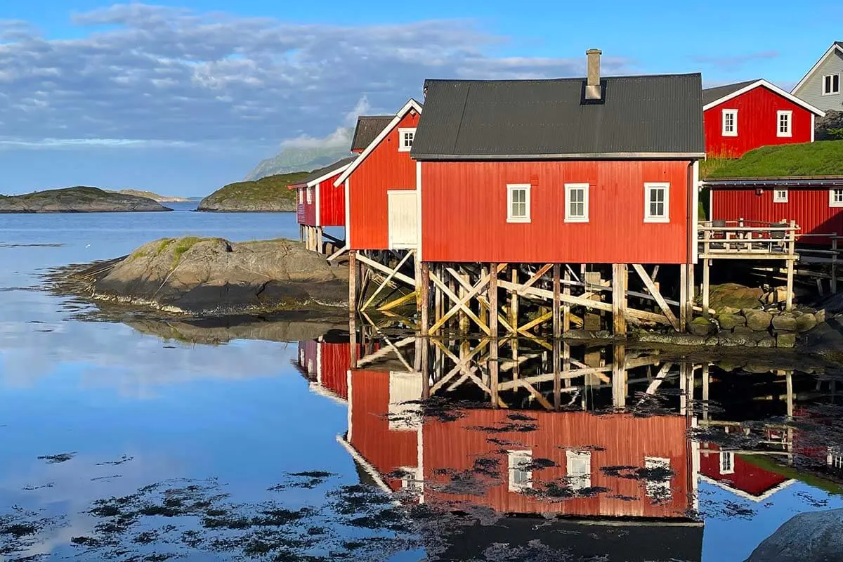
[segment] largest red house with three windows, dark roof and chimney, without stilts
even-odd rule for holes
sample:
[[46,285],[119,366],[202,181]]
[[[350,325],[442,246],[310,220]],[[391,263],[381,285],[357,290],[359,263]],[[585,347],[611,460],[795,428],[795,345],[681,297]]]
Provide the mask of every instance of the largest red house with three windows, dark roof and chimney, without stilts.
[[588,57],[585,79],[425,83],[421,260],[695,263],[701,75]]

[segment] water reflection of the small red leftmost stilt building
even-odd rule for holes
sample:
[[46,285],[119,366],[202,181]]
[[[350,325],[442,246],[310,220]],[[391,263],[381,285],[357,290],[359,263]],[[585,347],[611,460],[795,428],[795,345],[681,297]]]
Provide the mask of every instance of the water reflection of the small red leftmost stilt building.
[[[360,345],[356,346],[357,358]],[[310,388],[329,398],[348,399],[348,367],[352,346],[347,341],[331,342],[322,338],[298,342],[298,367],[308,378]]]

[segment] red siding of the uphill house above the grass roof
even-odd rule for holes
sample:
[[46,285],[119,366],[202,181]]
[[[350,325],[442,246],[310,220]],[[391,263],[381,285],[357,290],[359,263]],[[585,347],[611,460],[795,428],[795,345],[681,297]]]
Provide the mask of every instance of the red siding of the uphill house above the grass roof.
[[[738,136],[722,136],[722,110],[738,110]],[[792,136],[776,136],[776,111],[791,110]],[[758,147],[811,141],[811,112],[760,86],[703,113],[709,157],[738,158]]]

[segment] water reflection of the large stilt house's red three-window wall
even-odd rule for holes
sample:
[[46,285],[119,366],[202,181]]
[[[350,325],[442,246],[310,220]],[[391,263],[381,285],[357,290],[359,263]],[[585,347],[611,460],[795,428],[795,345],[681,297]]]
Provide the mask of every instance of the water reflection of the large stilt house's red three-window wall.
[[[534,470],[534,490],[542,483],[563,479],[566,475],[566,451],[591,451],[591,485],[609,491],[591,497],[578,497],[558,502],[534,498],[509,491],[508,459],[499,444],[489,442],[490,434],[480,427],[507,426],[512,412],[491,409],[465,411],[455,421],[426,420],[423,443],[425,482],[447,482],[438,468],[455,471],[470,470],[477,458],[497,459],[496,479],[489,479],[490,487],[482,495],[448,495],[426,486],[425,499],[466,501],[506,513],[560,513],[577,516],[604,517],[685,517],[690,509],[690,464],[686,431],[687,422],[681,416],[636,418],[631,415],[592,415],[586,412],[552,413],[525,412],[536,421],[536,431],[496,431],[493,436],[503,447],[512,450],[531,449],[534,461],[550,459],[556,466]],[[565,447],[565,448],[562,448]],[[671,479],[671,498],[654,503],[647,497],[643,481],[625,479],[604,473],[607,467],[644,467],[645,457],[669,458],[674,471]],[[626,496],[621,499],[619,496]],[[631,499],[630,499],[631,498]]]

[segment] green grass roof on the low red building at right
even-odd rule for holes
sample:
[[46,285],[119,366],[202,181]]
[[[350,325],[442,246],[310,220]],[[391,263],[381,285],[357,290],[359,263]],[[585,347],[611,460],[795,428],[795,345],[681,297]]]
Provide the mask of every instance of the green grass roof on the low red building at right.
[[701,163],[703,179],[843,176],[843,141],[760,147],[741,158]]

